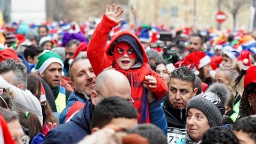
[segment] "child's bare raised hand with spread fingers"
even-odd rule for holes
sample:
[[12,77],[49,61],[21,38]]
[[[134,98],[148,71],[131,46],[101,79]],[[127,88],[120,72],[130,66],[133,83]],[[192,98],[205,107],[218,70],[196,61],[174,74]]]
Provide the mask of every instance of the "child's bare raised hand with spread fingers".
[[[124,10],[121,10],[121,11],[119,11],[118,13],[117,13],[117,11],[120,9],[120,5],[118,5],[117,7],[116,7],[116,9],[115,9],[115,6],[116,6],[116,4],[113,4],[112,6],[111,6],[111,9],[109,10],[109,5],[107,5],[106,6],[106,15],[107,15],[107,17],[109,18],[109,19],[111,19],[111,20],[114,20],[114,21],[116,21],[117,23],[120,23],[121,21],[123,21],[124,19],[119,19],[119,20],[117,20],[117,18],[124,12]],[[115,10],[114,10],[115,9]]]

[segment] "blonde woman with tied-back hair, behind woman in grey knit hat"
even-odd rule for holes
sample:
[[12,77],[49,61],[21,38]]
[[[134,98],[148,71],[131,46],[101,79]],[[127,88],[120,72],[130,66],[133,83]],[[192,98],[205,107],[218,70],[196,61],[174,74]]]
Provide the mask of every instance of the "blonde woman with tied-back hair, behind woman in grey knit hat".
[[237,115],[239,113],[239,102],[241,100],[241,95],[243,92],[243,82],[241,81],[236,85],[235,80],[239,76],[239,71],[242,69],[242,66],[239,63],[236,63],[233,66],[230,63],[227,63],[221,66],[215,74],[215,79],[218,83],[225,84],[233,97],[231,97],[229,102],[226,103],[226,114],[228,115],[233,122],[236,121]]

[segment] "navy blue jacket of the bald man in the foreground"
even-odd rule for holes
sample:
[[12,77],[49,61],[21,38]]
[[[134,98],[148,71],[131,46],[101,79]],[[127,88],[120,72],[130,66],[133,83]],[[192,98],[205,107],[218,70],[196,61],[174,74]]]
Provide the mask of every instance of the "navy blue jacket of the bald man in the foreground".
[[91,100],[85,103],[70,122],[61,124],[49,131],[42,143],[77,143],[86,135],[91,134],[91,119],[94,106]]

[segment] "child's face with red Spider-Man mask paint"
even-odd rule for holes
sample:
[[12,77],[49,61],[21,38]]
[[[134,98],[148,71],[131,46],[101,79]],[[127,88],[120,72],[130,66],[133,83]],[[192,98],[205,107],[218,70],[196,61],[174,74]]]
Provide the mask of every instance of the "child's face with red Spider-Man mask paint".
[[116,64],[122,70],[129,70],[137,59],[135,50],[127,42],[120,42],[114,46]]

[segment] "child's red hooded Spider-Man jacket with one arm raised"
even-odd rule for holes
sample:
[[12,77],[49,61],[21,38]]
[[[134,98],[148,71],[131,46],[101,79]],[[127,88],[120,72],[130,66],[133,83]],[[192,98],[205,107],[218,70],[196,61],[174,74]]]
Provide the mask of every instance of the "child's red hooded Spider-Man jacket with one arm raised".
[[[151,70],[148,65],[148,57],[139,39],[130,31],[121,31],[113,37],[105,49],[109,32],[118,25],[117,22],[109,19],[106,14],[95,29],[87,48],[87,57],[90,60],[94,74],[98,76],[104,68],[113,66],[117,71],[124,74],[131,85],[131,97],[134,100],[134,107],[137,108],[139,123],[149,123],[149,112],[147,103],[147,89],[143,87],[145,76],[151,75],[156,78],[157,87],[150,89],[157,99],[161,99],[167,93],[167,84],[163,78]],[[129,70],[122,70],[115,63],[113,57],[114,44],[118,42],[129,43],[137,53],[138,61]]]

